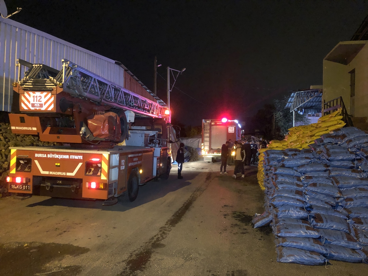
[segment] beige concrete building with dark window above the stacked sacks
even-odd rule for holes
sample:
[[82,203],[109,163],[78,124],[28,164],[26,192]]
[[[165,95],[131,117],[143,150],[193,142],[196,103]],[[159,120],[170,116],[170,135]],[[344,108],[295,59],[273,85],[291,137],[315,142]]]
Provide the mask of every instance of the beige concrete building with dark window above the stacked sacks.
[[[336,98],[342,103],[326,104]],[[322,112],[333,105],[344,105],[354,126],[368,129],[368,40],[339,42],[323,59]]]

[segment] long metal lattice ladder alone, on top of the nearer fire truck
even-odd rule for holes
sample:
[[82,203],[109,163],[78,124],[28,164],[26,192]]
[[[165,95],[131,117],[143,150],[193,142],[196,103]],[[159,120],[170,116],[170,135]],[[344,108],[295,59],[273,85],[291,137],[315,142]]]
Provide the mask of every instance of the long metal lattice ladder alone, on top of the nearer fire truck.
[[[133,93],[105,78],[102,78],[68,60],[61,60],[63,68],[56,77],[47,74],[47,71],[55,73],[57,70],[44,64],[31,64],[22,62],[20,64],[32,67],[25,73],[25,77],[20,81],[20,85],[25,90],[39,90],[42,85],[46,90],[50,85],[59,86],[63,91],[72,96],[86,98],[99,105],[110,105],[120,109],[131,110],[135,113],[150,117],[165,117],[168,110],[166,104],[159,100],[159,103],[146,99]],[[26,64],[25,64],[26,63]],[[55,74],[53,74],[55,76]],[[44,89],[42,89],[44,90]]]

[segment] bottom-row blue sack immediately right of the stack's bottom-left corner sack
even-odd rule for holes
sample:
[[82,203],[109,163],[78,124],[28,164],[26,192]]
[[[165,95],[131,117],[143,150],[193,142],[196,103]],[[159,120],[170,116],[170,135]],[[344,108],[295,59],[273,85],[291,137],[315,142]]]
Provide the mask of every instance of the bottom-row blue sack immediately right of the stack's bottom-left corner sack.
[[357,243],[354,236],[338,230],[319,229],[322,244],[334,244],[358,250],[361,246]]

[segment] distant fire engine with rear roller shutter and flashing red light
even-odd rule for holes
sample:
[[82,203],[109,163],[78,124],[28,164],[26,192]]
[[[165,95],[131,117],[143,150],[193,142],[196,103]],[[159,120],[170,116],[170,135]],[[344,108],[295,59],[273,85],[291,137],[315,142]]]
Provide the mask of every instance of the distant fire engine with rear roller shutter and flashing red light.
[[202,120],[202,156],[205,161],[216,162],[221,158],[221,147],[229,139],[241,139],[241,125],[238,120]]

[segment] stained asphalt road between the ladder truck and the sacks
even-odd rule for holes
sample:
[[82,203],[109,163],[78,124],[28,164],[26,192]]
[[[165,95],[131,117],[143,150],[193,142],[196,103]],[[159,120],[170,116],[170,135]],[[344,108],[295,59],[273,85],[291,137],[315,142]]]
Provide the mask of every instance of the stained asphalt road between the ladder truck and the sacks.
[[256,167],[244,179],[219,163],[185,163],[183,180],[139,188],[136,201],[0,199],[0,275],[368,275],[368,265],[276,262]]

